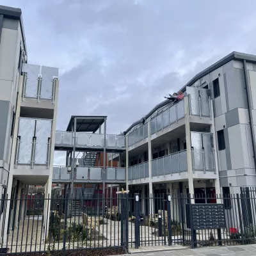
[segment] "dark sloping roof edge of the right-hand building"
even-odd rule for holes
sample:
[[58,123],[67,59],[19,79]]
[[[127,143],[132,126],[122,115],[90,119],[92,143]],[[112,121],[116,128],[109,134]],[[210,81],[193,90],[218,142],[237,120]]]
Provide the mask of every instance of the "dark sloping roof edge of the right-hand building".
[[[182,92],[184,92],[186,90],[187,86],[191,86],[193,83],[198,81],[198,79],[200,79],[200,78],[204,77],[205,75],[211,73],[213,70],[216,70],[217,68],[225,65],[226,63],[228,63],[231,60],[239,60],[239,61],[246,60],[246,61],[249,61],[250,63],[256,63],[256,55],[246,54],[246,53],[243,53],[243,52],[231,52],[230,54],[228,54],[227,56],[225,56],[221,60],[217,61],[216,63],[212,64],[211,66],[205,68],[203,71],[196,74],[196,76],[194,76],[180,90]],[[164,100],[163,102],[157,104],[147,115],[145,115],[143,118],[141,118],[140,120],[138,120],[138,121],[134,122],[132,125],[130,125],[130,127],[126,131],[124,131],[124,134],[127,134],[127,132],[129,132],[132,129],[132,127],[142,123],[143,119],[147,119],[150,115],[152,115],[152,113],[154,113],[154,111],[156,111],[157,109],[159,109],[159,108],[163,107],[164,105],[168,104],[168,102],[170,102],[170,101],[169,100]]]

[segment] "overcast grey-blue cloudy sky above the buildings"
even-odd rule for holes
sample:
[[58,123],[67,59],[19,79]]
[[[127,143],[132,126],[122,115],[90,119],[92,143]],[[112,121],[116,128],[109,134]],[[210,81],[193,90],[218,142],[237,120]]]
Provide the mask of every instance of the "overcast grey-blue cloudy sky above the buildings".
[[254,0],[0,3],[22,9],[29,63],[60,68],[63,131],[71,115],[107,115],[118,134],[228,53],[256,54]]

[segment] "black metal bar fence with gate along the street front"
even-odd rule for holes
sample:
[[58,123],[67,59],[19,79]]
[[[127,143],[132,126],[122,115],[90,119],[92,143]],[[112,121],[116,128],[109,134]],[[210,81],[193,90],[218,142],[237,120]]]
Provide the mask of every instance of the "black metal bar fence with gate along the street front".
[[110,248],[122,254],[140,246],[254,244],[255,193],[243,188],[239,194],[220,196],[131,192],[76,200],[61,193],[46,199],[3,198],[0,252],[68,255],[70,250]]

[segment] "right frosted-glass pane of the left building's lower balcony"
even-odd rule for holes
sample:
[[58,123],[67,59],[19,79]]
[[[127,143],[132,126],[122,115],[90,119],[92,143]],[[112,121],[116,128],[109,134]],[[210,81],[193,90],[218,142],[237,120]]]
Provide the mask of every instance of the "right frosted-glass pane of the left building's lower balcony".
[[35,148],[35,164],[47,164],[48,138],[51,138],[52,121],[36,120],[36,148]]

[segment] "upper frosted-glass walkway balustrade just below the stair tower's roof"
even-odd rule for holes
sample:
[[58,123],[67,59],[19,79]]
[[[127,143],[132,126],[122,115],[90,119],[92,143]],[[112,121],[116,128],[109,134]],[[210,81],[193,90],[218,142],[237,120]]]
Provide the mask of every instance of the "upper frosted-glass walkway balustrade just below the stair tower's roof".
[[[74,145],[73,132],[56,131],[55,149],[72,148]],[[103,150],[104,134],[76,132],[76,148],[81,150]],[[113,151],[125,150],[125,136],[106,134],[106,149]]]

